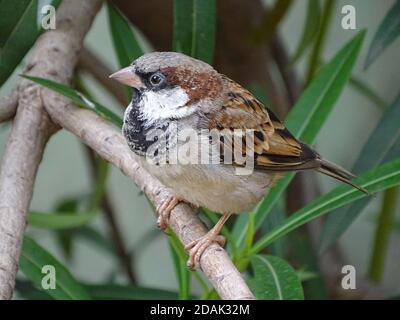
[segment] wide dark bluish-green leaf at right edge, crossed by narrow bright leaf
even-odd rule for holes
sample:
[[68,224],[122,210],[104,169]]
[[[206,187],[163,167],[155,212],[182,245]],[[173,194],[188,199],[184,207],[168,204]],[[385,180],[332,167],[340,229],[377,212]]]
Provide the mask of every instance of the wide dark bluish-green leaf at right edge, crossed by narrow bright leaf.
[[[399,119],[400,96],[385,111],[371,133],[352,168],[354,173],[359,174],[400,157]],[[370,198],[358,200],[329,214],[321,233],[321,251],[325,251],[348,229],[369,201]]]

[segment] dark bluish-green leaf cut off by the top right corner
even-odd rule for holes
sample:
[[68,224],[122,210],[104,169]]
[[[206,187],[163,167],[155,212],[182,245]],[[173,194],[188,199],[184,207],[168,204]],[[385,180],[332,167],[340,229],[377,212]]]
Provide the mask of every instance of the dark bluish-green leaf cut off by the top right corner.
[[364,69],[367,69],[400,35],[400,0],[391,7],[376,31],[369,47]]

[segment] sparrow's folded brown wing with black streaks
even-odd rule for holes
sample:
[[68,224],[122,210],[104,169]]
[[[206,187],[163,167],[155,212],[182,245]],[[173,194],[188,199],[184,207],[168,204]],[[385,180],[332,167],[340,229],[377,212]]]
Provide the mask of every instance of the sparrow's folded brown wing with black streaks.
[[[248,90],[223,78],[225,100],[220,111],[210,118],[210,129],[254,130],[254,168],[266,171],[291,171],[313,168],[318,155],[284,127],[276,115],[265,108]],[[221,141],[223,144],[223,141]],[[226,148],[226,143],[224,145]],[[246,139],[232,143],[233,150],[246,154]],[[221,151],[222,151],[221,146]],[[221,157],[221,161],[223,161]],[[235,165],[240,165],[233,162]]]

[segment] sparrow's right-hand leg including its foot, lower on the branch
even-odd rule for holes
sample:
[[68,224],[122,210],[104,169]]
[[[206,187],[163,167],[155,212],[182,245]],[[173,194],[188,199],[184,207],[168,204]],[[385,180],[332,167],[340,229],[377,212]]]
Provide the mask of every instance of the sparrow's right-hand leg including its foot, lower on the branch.
[[225,244],[225,238],[219,235],[224,223],[229,219],[231,213],[225,213],[216,225],[208,231],[204,236],[200,237],[197,240],[192,241],[188,245],[185,246],[185,250],[189,252],[189,259],[187,262],[187,266],[190,270],[197,268],[200,263],[201,255],[204,250],[206,250],[211,243],[217,242],[221,247]]

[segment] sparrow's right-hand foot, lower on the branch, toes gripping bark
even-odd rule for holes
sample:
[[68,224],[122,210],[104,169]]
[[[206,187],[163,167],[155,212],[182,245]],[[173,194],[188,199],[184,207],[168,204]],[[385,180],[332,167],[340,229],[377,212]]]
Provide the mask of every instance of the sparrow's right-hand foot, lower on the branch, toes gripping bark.
[[190,270],[194,270],[199,266],[201,255],[213,242],[216,242],[223,247],[225,245],[225,238],[221,235],[218,235],[218,233],[214,232],[214,230],[210,230],[204,236],[190,242],[185,246],[185,250],[189,252],[187,267]]

